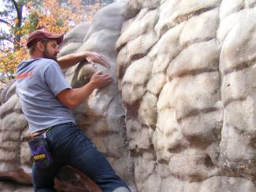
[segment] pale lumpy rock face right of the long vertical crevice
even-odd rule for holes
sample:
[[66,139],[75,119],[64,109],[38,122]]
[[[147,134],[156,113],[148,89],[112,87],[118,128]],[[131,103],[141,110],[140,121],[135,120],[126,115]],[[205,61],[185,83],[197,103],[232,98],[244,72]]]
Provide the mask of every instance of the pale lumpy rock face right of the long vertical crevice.
[[255,17],[254,0],[129,2],[117,77],[138,191],[256,191]]

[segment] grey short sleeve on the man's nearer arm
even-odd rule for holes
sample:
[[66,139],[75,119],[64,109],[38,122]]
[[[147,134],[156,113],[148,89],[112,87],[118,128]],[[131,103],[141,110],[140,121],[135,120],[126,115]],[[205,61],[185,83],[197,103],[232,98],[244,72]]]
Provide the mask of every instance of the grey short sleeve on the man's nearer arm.
[[66,81],[60,66],[56,62],[47,65],[43,71],[43,81],[49,87],[50,91],[56,96],[61,90],[72,89]]

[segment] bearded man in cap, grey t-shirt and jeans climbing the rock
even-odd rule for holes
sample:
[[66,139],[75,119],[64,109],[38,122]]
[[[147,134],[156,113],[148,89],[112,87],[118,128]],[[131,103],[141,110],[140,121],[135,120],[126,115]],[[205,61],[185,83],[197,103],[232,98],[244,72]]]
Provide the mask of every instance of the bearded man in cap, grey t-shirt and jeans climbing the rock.
[[106,158],[83,131],[69,109],[80,105],[95,89],[112,82],[110,74],[96,72],[89,83],[72,89],[61,68],[87,60],[105,67],[100,54],[85,51],[57,59],[63,35],[37,30],[28,37],[30,57],[17,68],[17,94],[28,120],[29,142],[34,163],[32,183],[35,191],[54,190],[54,176],[63,165],[70,165],[89,176],[105,191],[128,192],[128,186],[115,174]]

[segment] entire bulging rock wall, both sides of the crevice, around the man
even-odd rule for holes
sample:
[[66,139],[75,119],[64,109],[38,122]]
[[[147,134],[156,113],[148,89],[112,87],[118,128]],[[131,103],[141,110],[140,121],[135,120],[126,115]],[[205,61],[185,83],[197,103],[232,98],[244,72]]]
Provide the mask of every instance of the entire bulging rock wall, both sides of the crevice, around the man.
[[[72,113],[132,191],[256,191],[254,18],[256,0],[130,0],[65,35],[60,55],[97,51],[111,64],[80,63],[65,76],[80,87],[96,70],[113,74],[113,85]],[[28,124],[15,87],[0,90],[0,179],[29,184]],[[69,167],[56,186],[98,191]]]

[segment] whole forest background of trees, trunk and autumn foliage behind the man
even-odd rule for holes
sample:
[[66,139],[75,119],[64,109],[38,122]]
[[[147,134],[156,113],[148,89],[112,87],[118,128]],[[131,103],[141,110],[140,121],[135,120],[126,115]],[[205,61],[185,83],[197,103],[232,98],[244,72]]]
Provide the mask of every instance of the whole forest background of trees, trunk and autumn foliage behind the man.
[[17,64],[28,57],[28,34],[44,28],[66,33],[90,22],[115,0],[0,0],[0,88],[15,79]]

